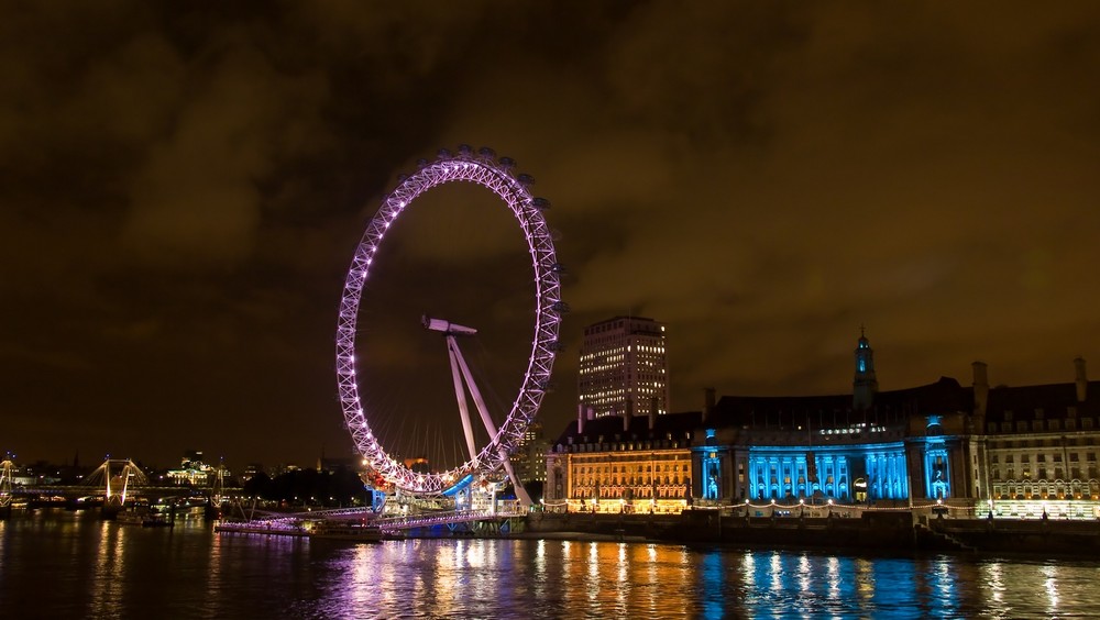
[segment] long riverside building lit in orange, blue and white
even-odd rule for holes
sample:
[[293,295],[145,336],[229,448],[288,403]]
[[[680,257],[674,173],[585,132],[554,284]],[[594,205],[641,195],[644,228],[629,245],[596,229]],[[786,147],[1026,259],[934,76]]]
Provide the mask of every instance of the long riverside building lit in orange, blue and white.
[[978,517],[1100,517],[1100,385],[990,388],[939,380],[879,391],[860,335],[853,394],[737,397],[702,411],[596,418],[580,411],[547,455],[547,503],[678,511],[745,503],[903,508]]

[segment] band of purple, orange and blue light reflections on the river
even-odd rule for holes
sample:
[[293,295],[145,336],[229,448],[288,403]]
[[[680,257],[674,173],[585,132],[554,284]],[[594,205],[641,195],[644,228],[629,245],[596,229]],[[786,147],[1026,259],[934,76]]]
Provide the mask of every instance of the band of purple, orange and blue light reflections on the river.
[[1094,611],[1097,567],[549,540],[312,552],[324,579],[299,616],[317,618],[1050,617]]

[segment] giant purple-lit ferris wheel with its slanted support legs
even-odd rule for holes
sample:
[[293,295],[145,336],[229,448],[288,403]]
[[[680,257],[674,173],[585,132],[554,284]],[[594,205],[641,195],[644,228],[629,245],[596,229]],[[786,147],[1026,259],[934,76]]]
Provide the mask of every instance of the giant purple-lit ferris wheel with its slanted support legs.
[[[508,457],[522,441],[527,427],[538,413],[542,397],[549,387],[550,372],[559,348],[559,324],[568,306],[561,300],[562,269],[554,253],[551,230],[543,214],[550,202],[531,196],[529,188],[534,179],[528,175],[514,174],[513,159],[497,158],[493,150],[487,147],[475,152],[468,145],[459,145],[454,153],[446,148],[440,150],[435,162],[428,163],[421,159],[418,162],[418,167],[415,174],[398,177],[397,188],[383,199],[382,206],[367,224],[355,248],[340,301],[336,352],[337,385],[344,423],[365,463],[398,489],[413,494],[435,495],[447,492],[463,480],[470,480],[471,476],[498,473],[502,469],[512,474]],[[364,284],[376,267],[382,243],[398,217],[425,191],[455,181],[473,182],[488,189],[504,202],[518,222],[527,241],[535,274],[535,329],[519,392],[504,422],[497,427],[487,416],[458,347],[458,336],[473,335],[476,329],[452,324],[442,319],[422,317],[425,328],[442,332],[447,339],[466,452],[465,461],[458,466],[443,470],[414,472],[403,461],[395,458],[372,430],[372,411],[363,398],[366,396],[365,392],[360,394],[361,377],[356,374],[356,367],[360,366],[356,364],[360,301]],[[475,444],[461,381],[465,381],[465,387],[473,396],[485,425],[483,434],[487,435],[488,441],[484,445]],[[516,490],[522,492],[518,484]]]

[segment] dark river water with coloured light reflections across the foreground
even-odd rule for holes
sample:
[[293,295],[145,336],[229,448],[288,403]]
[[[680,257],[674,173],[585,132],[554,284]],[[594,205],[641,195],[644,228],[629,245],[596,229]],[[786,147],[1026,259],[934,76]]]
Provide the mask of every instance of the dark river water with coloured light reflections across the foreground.
[[1100,561],[0,521],[2,618],[1100,617]]

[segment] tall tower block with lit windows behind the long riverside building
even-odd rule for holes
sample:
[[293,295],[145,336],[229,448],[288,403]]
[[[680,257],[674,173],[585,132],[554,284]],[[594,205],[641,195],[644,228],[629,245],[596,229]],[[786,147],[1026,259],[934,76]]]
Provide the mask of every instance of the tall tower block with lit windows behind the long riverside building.
[[667,413],[664,325],[641,317],[615,317],[585,328],[578,400],[579,408],[595,418]]

